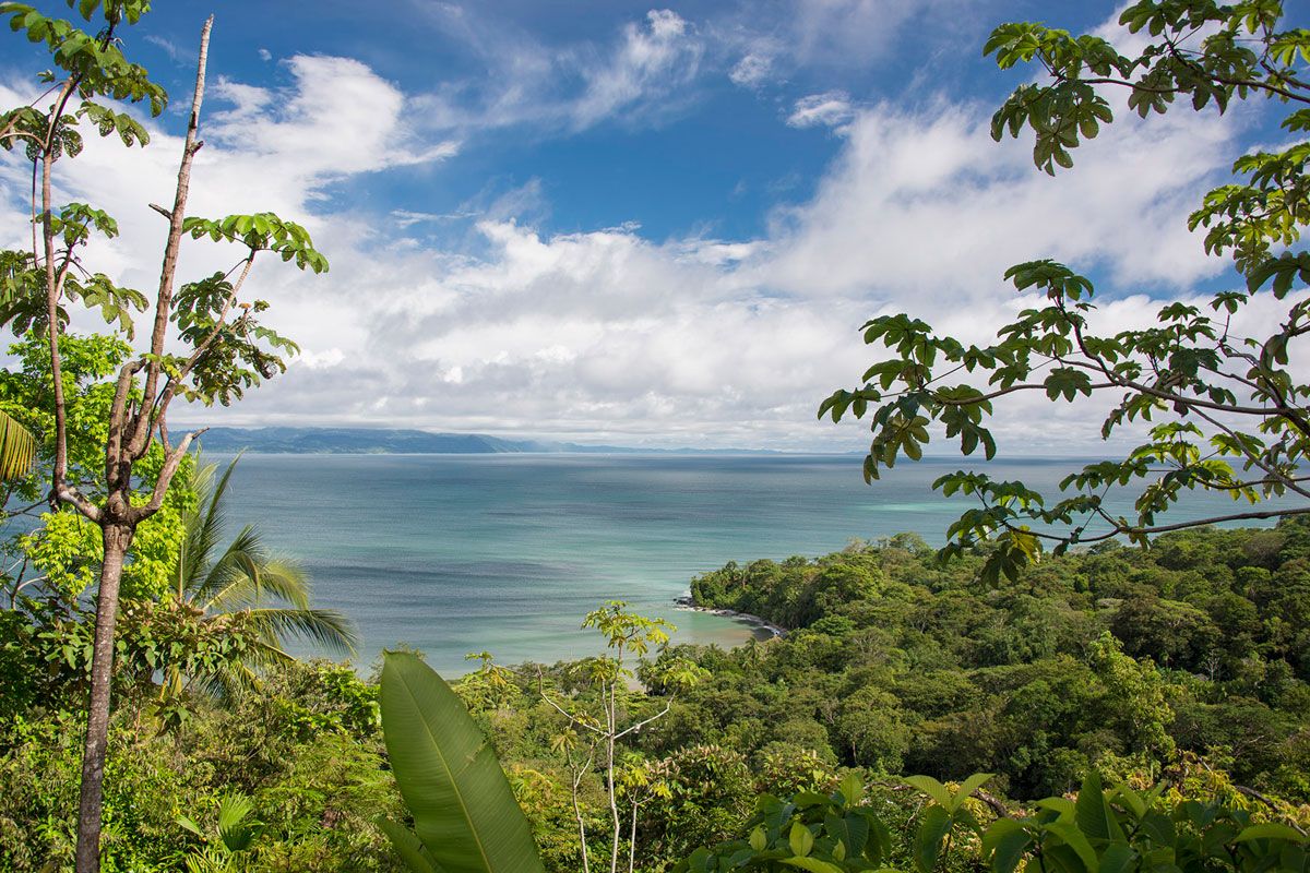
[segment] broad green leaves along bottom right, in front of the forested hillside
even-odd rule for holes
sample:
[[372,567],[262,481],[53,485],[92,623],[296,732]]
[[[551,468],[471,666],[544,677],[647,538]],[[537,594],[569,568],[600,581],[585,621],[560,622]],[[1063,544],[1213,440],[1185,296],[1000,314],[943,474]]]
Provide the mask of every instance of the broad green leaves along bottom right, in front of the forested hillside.
[[1242,809],[1183,800],[1162,802],[1157,788],[1104,792],[1093,775],[1077,798],[1048,797],[1022,817],[984,825],[972,792],[981,774],[950,791],[926,777],[910,781],[927,794],[917,827],[897,840],[876,809],[862,805],[859,780],[832,794],[762,797],[744,839],[700,848],[673,873],[769,870],[933,873],[952,849],[996,873],[1201,873],[1203,870],[1306,870],[1310,840],[1294,827],[1258,822]]

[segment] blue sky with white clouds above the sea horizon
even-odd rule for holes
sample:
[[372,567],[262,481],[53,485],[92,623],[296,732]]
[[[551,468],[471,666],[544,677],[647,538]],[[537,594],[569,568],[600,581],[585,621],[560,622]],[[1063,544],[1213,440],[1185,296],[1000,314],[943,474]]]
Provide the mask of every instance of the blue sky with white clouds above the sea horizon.
[[[140,289],[157,283],[148,204],[172,200],[207,12],[157,5],[124,35],[173,98],[145,122],[152,144],[93,139],[58,165],[59,195],[123,230],[84,260]],[[1273,135],[1260,107],[1120,111],[1057,178],[1027,136],[993,143],[992,113],[1032,73],[998,71],[986,35],[1041,20],[1125,39],[1116,7],[1090,0],[214,9],[190,211],[271,209],[331,268],[257,263],[267,323],[303,353],[231,408],[176,410],[174,429],[861,450],[862,425],[815,412],[875,360],[865,321],[908,312],[985,342],[1024,305],[1005,268],[1035,258],[1095,279],[1102,330],[1237,284],[1186,217]],[[12,106],[37,93],[42,58],[3,38]],[[30,238],[29,173],[0,158],[5,247]],[[198,242],[183,271],[237,259]],[[1089,450],[1095,411],[1020,398],[998,420],[1002,452]]]

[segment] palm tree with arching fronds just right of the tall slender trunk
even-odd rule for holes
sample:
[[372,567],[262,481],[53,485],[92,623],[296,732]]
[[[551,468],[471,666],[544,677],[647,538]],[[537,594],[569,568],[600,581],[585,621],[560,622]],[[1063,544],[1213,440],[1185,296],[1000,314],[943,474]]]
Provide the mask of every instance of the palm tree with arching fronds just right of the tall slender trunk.
[[[183,516],[186,537],[172,571],[176,588],[168,594],[189,609],[195,620],[210,628],[240,624],[250,636],[248,645],[219,670],[193,675],[211,691],[229,694],[257,682],[255,670],[292,661],[286,644],[309,640],[341,654],[354,654],[358,636],[350,619],[337,610],[309,606],[309,579],[295,563],[280,559],[263,544],[259,531],[246,525],[219,551],[227,510],[224,496],[237,461],[221,475],[217,465],[195,465],[179,472],[182,487],[195,491],[194,509]],[[182,669],[165,669],[164,694],[181,691]]]

